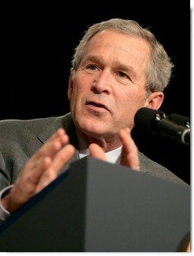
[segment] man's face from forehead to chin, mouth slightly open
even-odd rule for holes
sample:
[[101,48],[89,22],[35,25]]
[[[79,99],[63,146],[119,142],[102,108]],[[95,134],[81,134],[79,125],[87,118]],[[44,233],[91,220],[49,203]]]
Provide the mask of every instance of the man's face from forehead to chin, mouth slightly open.
[[[147,106],[146,66],[150,48],[145,40],[115,31],[96,34],[68,85],[72,118],[87,136],[115,136],[132,129],[136,111]],[[147,105],[146,105],[147,104]]]

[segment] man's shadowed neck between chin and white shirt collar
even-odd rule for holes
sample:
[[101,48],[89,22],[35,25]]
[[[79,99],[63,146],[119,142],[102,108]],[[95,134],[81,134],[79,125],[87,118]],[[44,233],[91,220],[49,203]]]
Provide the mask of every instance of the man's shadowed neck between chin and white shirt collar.
[[119,136],[88,136],[81,130],[76,129],[78,135],[79,149],[87,149],[91,143],[96,143],[104,152],[110,152],[122,146]]

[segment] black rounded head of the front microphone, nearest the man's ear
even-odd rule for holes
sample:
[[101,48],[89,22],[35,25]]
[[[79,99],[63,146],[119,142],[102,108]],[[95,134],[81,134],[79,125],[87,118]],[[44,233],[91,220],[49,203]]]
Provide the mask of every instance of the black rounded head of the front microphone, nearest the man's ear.
[[153,110],[148,107],[140,108],[134,118],[135,126],[142,130],[148,130],[151,133],[157,133],[157,123],[166,118],[167,115],[159,110]]

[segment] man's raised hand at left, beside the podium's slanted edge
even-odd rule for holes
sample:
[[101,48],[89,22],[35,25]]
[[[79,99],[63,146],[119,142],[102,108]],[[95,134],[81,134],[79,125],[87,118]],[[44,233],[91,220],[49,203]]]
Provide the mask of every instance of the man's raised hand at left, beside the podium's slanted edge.
[[67,143],[68,135],[59,129],[26,162],[14,187],[2,198],[5,209],[9,212],[17,210],[57,177],[75,153],[75,148]]

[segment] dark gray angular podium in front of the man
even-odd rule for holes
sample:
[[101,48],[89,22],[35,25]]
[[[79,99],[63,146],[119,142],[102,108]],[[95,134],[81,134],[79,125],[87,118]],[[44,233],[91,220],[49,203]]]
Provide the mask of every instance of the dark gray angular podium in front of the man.
[[189,230],[189,186],[88,157],[8,217],[0,251],[180,251]]

